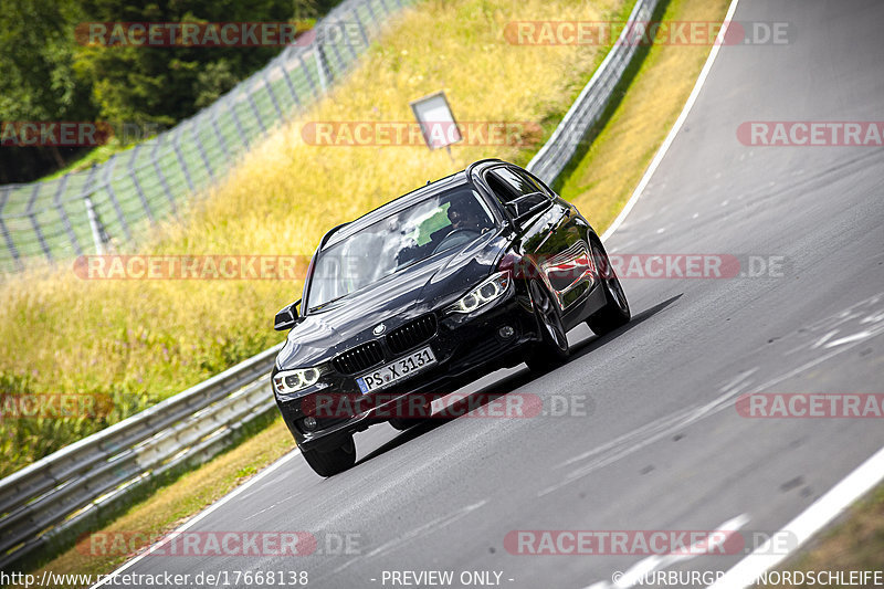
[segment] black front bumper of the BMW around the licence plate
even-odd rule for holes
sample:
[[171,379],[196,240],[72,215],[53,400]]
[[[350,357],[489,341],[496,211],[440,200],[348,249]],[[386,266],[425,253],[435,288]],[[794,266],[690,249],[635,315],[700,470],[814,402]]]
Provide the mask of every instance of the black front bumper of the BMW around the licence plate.
[[[385,350],[385,364],[430,346],[438,365],[387,388],[361,395],[356,383],[359,375],[330,375],[328,386],[292,401],[278,398],[276,403],[288,430],[304,449],[338,445],[343,435],[367,429],[373,423],[389,421],[390,416],[409,413],[410,409],[393,407],[409,402],[409,398],[436,398],[454,392],[491,370],[515,366],[523,360],[526,345],[538,339],[537,320],[527,296],[515,291],[496,302],[491,308],[471,315],[442,317],[436,312],[439,328],[430,339],[402,354]],[[502,337],[499,329],[513,328],[511,337]],[[275,370],[274,370],[275,372]],[[317,407],[328,407],[329,399],[340,396],[343,403],[334,403],[337,412],[317,412]],[[322,398],[322,400],[317,400]],[[355,400],[356,402],[352,402]],[[362,410],[366,407],[367,409]],[[412,406],[413,408],[413,406]],[[303,419],[316,419],[316,427],[307,430]],[[413,414],[413,413],[411,413]]]

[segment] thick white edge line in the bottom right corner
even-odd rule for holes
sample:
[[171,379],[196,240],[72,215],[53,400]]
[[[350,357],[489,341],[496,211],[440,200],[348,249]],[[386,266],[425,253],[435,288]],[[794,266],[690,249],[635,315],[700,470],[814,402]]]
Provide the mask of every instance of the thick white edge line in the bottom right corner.
[[[791,546],[791,550],[778,554],[780,550],[771,549],[770,540],[768,540],[737,562],[720,579],[711,585],[709,589],[736,589],[754,585],[758,577],[786,560],[815,533],[841,515],[850,504],[865,495],[881,481],[884,481],[884,448],[875,452],[872,457],[782,527],[780,534],[788,533],[797,540],[794,546]],[[775,534],[771,537],[782,536]]]

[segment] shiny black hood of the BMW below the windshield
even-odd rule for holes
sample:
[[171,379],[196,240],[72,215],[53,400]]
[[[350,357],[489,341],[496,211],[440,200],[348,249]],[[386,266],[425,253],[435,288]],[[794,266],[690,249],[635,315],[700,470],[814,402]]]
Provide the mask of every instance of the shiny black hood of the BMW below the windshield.
[[462,248],[440,252],[394,272],[303,317],[276,357],[278,368],[315,366],[345,349],[456,301],[496,267],[506,239],[488,232]]

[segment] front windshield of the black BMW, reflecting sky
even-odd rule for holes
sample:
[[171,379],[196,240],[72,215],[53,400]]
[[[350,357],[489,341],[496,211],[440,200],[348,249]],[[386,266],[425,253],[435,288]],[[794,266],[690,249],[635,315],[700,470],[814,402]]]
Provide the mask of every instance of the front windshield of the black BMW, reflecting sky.
[[320,251],[305,308],[316,309],[434,253],[464,245],[493,227],[485,201],[466,185],[417,202]]

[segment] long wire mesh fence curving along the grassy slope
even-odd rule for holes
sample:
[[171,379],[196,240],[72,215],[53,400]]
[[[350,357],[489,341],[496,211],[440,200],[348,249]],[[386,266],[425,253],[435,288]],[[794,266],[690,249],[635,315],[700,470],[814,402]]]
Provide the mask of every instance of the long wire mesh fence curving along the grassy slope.
[[[322,97],[390,14],[414,0],[345,0],[264,69],[173,129],[61,178],[0,186],[0,272],[135,243],[225,176],[261,135]],[[311,33],[312,34],[312,33]],[[98,220],[104,233],[90,223]],[[106,233],[106,234],[105,234]]]

